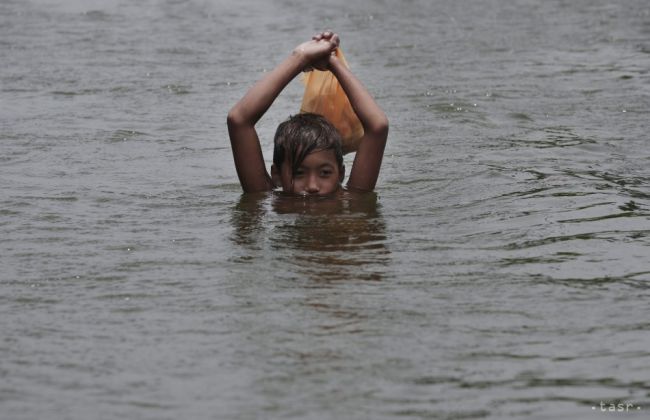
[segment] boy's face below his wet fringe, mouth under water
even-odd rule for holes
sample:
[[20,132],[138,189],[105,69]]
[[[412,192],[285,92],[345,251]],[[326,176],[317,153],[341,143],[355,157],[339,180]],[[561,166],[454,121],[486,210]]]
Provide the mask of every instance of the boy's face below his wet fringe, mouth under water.
[[336,192],[343,173],[336,163],[333,150],[318,150],[305,157],[295,174],[283,165],[282,187],[285,192],[301,195],[327,195]]

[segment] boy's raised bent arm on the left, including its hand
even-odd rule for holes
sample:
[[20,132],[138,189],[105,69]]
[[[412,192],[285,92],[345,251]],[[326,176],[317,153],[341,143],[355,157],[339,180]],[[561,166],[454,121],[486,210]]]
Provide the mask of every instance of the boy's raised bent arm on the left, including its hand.
[[337,44],[329,39],[316,37],[300,44],[289,57],[253,85],[228,113],[230,144],[239,182],[245,192],[273,189],[255,124],[296,75],[326,58],[336,47]]

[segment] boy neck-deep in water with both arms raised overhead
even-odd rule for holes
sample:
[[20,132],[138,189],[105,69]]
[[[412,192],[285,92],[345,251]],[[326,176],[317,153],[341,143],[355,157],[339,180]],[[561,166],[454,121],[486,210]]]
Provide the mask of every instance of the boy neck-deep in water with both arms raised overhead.
[[284,192],[294,194],[328,195],[341,188],[345,176],[341,136],[325,118],[298,114],[278,126],[271,176],[264,166],[255,131],[257,121],[289,82],[312,68],[334,74],[364,129],[347,187],[359,191],[375,188],[388,137],[388,120],[361,82],[336,57],[338,46],[338,35],[329,31],[300,44],[228,113],[230,143],[244,192],[282,187]]

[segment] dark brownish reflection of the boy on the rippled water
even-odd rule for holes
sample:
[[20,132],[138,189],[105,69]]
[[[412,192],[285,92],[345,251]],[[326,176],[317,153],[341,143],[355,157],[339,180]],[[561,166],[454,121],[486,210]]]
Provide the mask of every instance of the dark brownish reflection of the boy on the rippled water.
[[232,223],[234,244],[250,251],[268,248],[276,260],[310,279],[381,280],[388,265],[385,223],[375,193],[242,194]]

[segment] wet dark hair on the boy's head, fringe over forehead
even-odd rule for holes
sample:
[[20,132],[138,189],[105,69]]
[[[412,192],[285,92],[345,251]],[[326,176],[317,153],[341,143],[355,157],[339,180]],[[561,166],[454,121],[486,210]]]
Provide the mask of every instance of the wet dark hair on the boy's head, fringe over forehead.
[[288,157],[295,174],[308,154],[321,150],[333,150],[343,170],[341,135],[322,115],[306,112],[289,117],[278,126],[273,143],[273,164],[278,171]]

